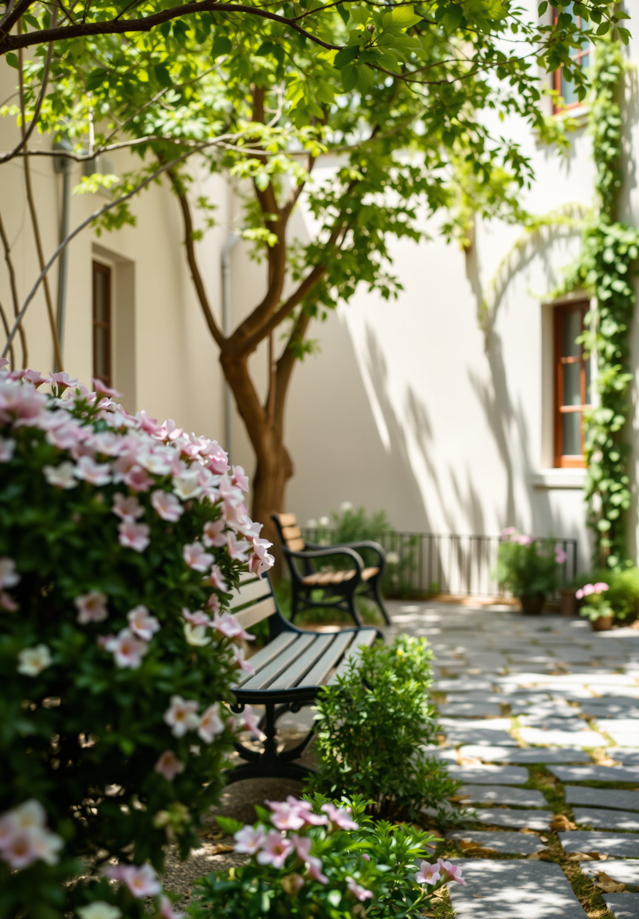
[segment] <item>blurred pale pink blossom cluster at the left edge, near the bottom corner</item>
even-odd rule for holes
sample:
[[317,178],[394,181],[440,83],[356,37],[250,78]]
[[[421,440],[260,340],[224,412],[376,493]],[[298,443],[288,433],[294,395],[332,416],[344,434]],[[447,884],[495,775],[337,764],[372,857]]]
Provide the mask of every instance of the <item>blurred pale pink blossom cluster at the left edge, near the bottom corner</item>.
[[58,834],[47,829],[47,814],[31,798],[0,816],[0,858],[11,868],[28,868],[36,861],[58,863],[64,845]]

